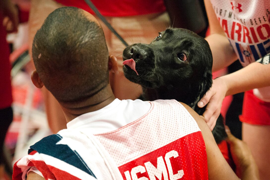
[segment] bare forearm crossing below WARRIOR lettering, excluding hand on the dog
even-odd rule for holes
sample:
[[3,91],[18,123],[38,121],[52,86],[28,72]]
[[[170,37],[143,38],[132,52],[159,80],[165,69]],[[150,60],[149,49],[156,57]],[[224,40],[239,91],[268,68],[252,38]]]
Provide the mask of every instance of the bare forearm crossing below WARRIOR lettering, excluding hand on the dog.
[[270,86],[270,64],[254,62],[234,73],[221,76],[227,85],[228,95],[245,92],[254,88]]

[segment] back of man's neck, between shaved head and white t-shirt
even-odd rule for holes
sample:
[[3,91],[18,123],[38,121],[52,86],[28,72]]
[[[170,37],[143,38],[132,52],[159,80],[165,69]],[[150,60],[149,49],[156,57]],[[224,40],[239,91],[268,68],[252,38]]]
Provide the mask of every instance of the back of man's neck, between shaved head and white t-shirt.
[[112,89],[108,84],[102,91],[82,101],[59,103],[65,114],[66,121],[69,122],[82,114],[102,109],[113,102],[114,99]]

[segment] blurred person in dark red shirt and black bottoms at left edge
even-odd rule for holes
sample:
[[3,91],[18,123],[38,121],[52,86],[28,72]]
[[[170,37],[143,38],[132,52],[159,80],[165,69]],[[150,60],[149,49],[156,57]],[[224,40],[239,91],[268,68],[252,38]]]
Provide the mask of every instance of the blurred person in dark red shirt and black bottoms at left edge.
[[[4,18],[7,17],[8,21]],[[6,42],[6,33],[17,31],[18,28],[18,12],[15,6],[9,0],[0,1],[0,179],[3,171],[4,155],[3,145],[6,132],[13,119],[11,108],[12,92],[11,92],[11,65],[9,63],[9,46]]]

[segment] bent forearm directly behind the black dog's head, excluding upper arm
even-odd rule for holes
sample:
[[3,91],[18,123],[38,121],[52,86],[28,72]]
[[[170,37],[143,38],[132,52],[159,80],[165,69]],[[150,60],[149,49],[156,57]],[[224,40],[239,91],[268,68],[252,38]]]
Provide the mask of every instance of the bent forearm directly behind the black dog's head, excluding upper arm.
[[213,55],[212,72],[225,68],[237,60],[237,55],[225,35],[211,34],[205,40]]

